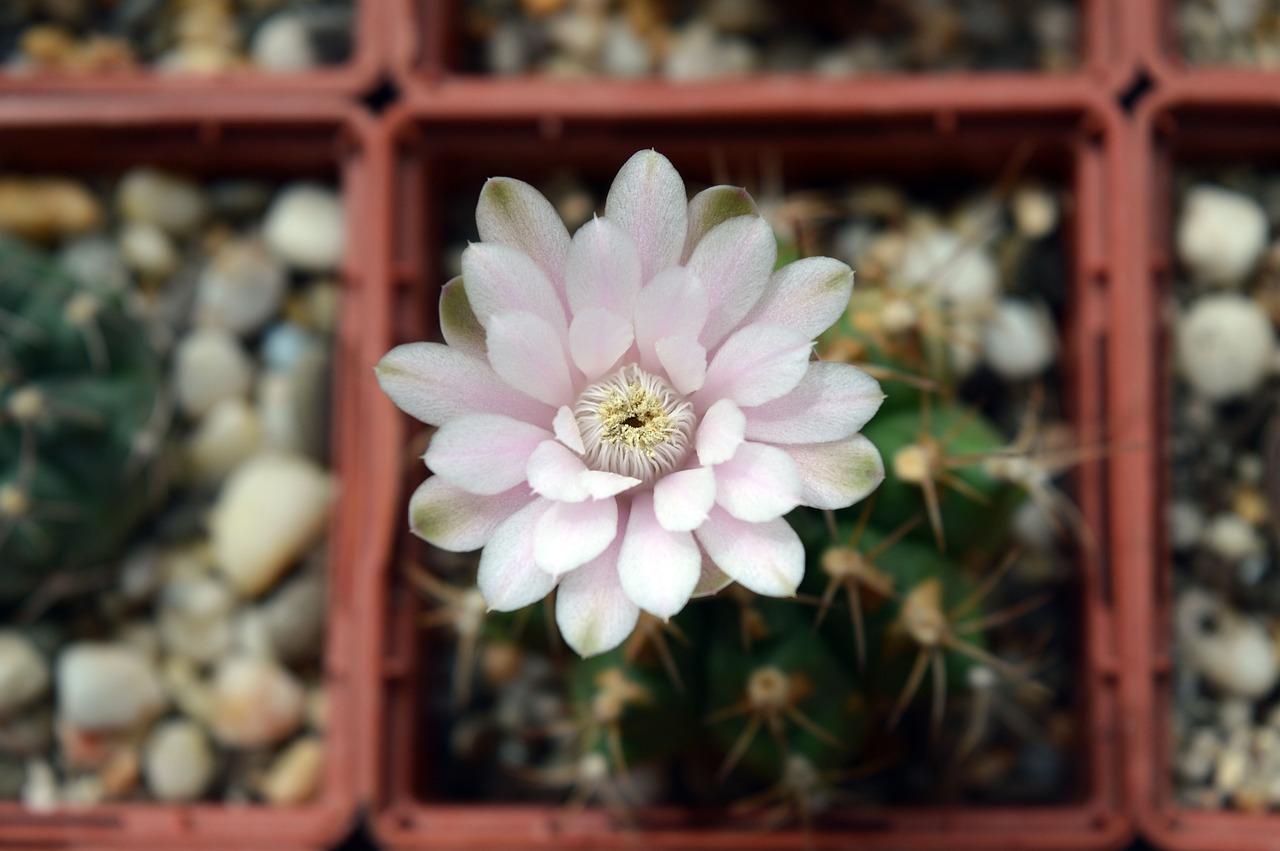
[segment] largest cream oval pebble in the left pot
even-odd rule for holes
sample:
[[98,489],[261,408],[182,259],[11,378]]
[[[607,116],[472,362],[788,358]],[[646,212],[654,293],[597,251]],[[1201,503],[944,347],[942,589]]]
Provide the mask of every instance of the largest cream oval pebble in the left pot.
[[214,559],[242,596],[271,587],[324,532],[333,482],[297,456],[262,454],[227,480],[211,518]]

